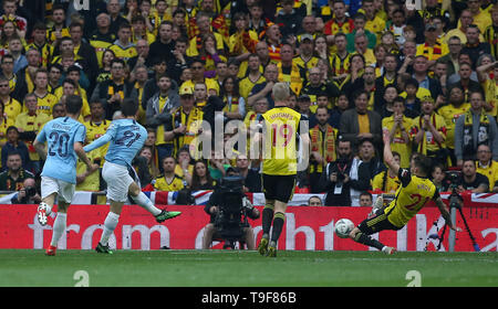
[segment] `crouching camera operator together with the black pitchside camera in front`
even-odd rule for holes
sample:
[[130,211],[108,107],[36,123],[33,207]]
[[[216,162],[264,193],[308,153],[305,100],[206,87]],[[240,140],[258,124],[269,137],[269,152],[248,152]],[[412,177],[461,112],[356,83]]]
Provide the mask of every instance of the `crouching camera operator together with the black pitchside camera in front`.
[[225,241],[225,247],[242,241],[247,248],[256,248],[255,234],[247,217],[256,220],[259,211],[252,206],[242,191],[243,178],[235,168],[228,168],[226,177],[215,188],[204,209],[210,215],[203,238],[203,249],[211,246],[212,239]]

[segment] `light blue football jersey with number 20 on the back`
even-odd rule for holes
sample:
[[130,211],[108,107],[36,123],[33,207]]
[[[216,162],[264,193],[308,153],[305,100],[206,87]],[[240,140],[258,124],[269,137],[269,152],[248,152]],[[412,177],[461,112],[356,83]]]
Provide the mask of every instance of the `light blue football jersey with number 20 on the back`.
[[86,128],[70,117],[60,117],[43,126],[37,140],[48,141],[46,160],[41,175],[76,183],[77,154],[74,143],[84,143]]

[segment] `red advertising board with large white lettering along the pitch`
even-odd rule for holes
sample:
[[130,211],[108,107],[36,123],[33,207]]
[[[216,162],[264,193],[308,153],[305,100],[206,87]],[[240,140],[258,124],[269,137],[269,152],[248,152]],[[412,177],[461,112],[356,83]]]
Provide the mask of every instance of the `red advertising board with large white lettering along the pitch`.
[[[469,227],[483,252],[496,252],[498,247],[498,207],[475,205],[464,210]],[[181,211],[174,220],[158,224],[139,206],[125,205],[111,247],[117,249],[198,249],[201,247],[204,227],[209,216],[204,206],[169,205],[169,211]],[[258,206],[262,211],[262,206]],[[54,210],[55,212],[56,210]],[[0,206],[0,248],[45,248],[51,237],[55,217],[52,213],[49,224],[41,226],[37,221],[37,205]],[[68,230],[59,243],[60,248],[92,249],[97,244],[108,205],[72,205],[69,211]],[[369,214],[369,207],[309,207],[291,206],[286,214],[286,225],[279,242],[280,249],[298,251],[366,251],[367,247],[351,239],[339,238],[334,223],[347,217],[359,224]],[[434,224],[437,222],[436,224]],[[255,237],[261,237],[261,219],[250,221]],[[374,237],[398,251],[435,251],[438,239],[429,235],[439,232],[444,225],[439,211],[434,206],[424,207],[400,231],[385,231]],[[465,228],[457,215],[457,226]],[[447,235],[440,251],[447,251]],[[214,244],[221,248],[222,244]],[[373,249],[373,248],[370,248]],[[455,252],[473,252],[468,233],[457,233]]]

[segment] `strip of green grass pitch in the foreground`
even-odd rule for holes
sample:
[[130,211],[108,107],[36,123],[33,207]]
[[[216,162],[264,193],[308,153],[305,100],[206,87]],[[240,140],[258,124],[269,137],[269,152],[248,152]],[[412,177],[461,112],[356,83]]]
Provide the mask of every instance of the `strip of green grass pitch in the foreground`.
[[[490,287],[497,253],[279,251],[0,251],[2,287]],[[409,276],[416,270],[416,277]],[[408,276],[407,276],[408,275]],[[417,281],[415,281],[417,280]]]

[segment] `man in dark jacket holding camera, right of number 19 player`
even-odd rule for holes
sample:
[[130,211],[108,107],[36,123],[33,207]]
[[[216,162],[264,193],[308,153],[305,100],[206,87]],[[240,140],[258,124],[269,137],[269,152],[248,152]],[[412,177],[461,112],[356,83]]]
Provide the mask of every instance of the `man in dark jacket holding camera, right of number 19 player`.
[[357,180],[352,180],[353,149],[350,140],[341,139],[338,145],[338,160],[326,164],[320,183],[325,192],[325,206],[351,206],[351,191],[365,191],[370,185],[369,167],[363,163],[357,164]]

